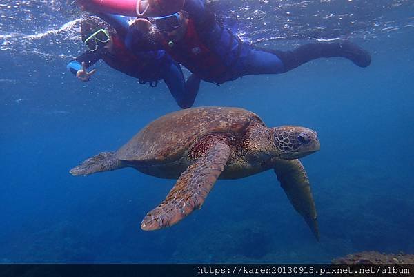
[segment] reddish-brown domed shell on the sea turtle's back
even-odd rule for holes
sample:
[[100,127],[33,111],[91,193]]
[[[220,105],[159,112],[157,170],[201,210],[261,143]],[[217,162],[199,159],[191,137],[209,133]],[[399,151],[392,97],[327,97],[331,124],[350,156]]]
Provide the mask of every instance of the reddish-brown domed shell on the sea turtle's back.
[[[119,160],[159,164],[174,162],[208,133],[244,133],[252,120],[242,108],[199,107],[168,113],[152,121],[116,153]],[[262,122],[263,123],[263,122]]]

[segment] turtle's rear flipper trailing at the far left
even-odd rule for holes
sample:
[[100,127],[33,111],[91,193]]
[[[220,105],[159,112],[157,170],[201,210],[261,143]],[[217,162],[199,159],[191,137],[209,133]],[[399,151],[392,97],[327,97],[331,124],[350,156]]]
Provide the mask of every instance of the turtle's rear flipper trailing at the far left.
[[96,172],[121,169],[125,165],[115,157],[115,152],[101,152],[94,157],[85,160],[79,166],[70,169],[69,173],[78,175],[89,175]]

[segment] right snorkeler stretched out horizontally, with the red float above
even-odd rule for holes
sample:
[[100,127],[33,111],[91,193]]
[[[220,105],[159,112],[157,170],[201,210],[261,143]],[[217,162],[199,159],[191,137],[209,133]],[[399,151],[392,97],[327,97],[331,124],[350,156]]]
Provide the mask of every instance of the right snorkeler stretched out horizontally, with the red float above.
[[[152,41],[142,46],[135,31],[130,48],[164,49],[175,61],[207,82],[223,84],[244,75],[285,73],[313,59],[344,57],[359,67],[371,64],[368,52],[349,41],[311,43],[294,50],[281,51],[258,48],[241,41],[221,26],[213,12],[206,10],[201,0],[78,0],[87,10],[107,10],[139,17],[155,17],[158,32]],[[174,12],[174,13],[173,13]],[[146,19],[132,24],[143,30]],[[131,27],[132,27],[131,26]]]

